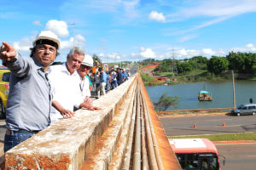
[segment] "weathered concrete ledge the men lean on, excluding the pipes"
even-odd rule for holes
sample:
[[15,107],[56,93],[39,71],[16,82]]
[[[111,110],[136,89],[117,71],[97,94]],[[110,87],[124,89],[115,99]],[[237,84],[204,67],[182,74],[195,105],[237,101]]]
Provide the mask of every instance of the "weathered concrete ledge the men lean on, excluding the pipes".
[[95,144],[109,126],[135,77],[100,99],[94,105],[102,111],[76,111],[69,119],[47,127],[44,131],[9,150],[6,169],[80,169]]

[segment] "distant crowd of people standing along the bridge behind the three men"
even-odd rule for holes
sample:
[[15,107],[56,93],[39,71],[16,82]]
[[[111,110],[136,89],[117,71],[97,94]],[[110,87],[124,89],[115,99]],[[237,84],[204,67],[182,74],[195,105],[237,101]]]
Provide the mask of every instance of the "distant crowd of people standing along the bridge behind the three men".
[[129,70],[117,68],[116,70],[103,71],[102,68],[99,68],[96,73],[90,74],[91,92],[96,98],[99,98],[127,81],[130,76]]

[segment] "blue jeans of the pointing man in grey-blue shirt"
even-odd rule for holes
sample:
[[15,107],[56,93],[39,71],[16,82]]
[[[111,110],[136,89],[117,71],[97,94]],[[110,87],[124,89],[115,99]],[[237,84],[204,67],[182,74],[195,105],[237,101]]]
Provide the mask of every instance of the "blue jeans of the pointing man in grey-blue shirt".
[[32,137],[34,133],[18,133],[11,131],[10,134],[5,133],[4,136],[4,152],[12,149],[16,145]]

